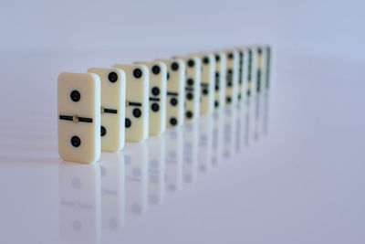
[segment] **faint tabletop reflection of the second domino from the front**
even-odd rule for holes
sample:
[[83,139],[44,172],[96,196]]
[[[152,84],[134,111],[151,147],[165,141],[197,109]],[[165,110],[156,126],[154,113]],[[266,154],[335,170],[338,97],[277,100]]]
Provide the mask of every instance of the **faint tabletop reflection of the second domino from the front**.
[[101,227],[119,230],[125,223],[124,155],[101,154]]

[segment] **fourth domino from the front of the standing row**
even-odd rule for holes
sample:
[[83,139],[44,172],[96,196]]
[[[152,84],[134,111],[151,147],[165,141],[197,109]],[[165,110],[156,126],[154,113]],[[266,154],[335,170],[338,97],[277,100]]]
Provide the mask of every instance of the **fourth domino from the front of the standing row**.
[[137,62],[150,70],[150,135],[166,131],[167,67],[162,62]]

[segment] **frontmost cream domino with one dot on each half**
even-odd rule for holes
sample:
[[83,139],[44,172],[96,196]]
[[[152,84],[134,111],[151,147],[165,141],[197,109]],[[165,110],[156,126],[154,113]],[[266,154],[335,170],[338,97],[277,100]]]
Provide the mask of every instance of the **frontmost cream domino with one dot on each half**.
[[95,74],[61,73],[57,81],[58,154],[91,164],[100,157],[100,80]]

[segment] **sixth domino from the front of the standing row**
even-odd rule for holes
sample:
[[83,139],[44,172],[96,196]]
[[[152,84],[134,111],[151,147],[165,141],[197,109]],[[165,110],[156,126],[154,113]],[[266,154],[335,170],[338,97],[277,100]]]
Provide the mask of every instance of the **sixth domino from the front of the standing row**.
[[195,120],[200,114],[200,85],[202,61],[198,57],[178,57],[186,67],[185,82],[185,122]]

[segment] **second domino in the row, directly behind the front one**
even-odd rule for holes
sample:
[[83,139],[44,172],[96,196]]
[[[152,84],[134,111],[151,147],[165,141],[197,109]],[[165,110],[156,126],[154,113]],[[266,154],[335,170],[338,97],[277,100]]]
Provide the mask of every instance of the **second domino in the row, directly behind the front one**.
[[124,147],[126,76],[121,69],[91,68],[101,84],[101,150],[115,153]]

